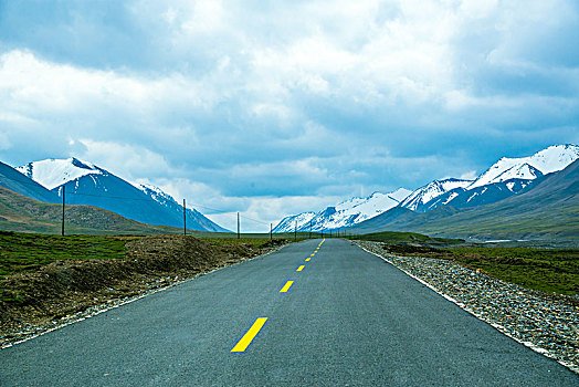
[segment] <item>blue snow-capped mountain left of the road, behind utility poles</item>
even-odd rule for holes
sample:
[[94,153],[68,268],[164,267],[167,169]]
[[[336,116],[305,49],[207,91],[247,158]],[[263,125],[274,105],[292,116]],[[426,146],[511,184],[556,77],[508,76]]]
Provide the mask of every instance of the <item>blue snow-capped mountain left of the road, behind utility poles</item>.
[[[18,168],[59,196],[66,187],[66,202],[99,207],[125,218],[150,224],[182,227],[183,209],[156,187],[133,185],[98,166],[76,158],[29,163]],[[227,231],[194,209],[187,211],[187,227],[201,231]]]

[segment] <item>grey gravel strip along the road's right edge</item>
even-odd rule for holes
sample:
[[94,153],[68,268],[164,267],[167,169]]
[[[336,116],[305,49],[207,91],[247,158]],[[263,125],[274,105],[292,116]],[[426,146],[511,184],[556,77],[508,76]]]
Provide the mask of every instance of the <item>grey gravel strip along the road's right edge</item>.
[[569,297],[527,290],[450,260],[391,255],[382,243],[357,243],[504,334],[579,374],[579,307]]

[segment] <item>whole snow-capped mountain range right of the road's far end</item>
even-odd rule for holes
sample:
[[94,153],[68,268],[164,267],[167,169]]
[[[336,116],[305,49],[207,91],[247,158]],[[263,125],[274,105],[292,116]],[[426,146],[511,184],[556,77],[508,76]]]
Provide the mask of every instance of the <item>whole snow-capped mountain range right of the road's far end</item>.
[[[276,226],[275,230],[292,231],[296,220],[298,221],[298,230],[308,230],[308,223],[312,221],[314,231],[352,227],[358,231],[373,232],[394,226],[397,230],[402,230],[404,224],[418,227],[417,224],[420,222],[428,223],[439,218],[448,218],[462,209],[474,209],[503,202],[505,199],[527,192],[543,181],[545,176],[561,171],[577,159],[579,159],[579,146],[571,144],[554,145],[529,157],[503,157],[476,179],[446,178],[433,180],[406,197],[398,196],[398,205],[388,203],[380,207],[380,203],[378,203],[373,211],[364,213],[364,217],[352,217],[339,224],[331,217],[338,212],[335,209],[336,208],[328,207],[317,213],[303,212],[286,217]],[[401,192],[409,191],[402,190]],[[355,198],[345,201],[345,203],[351,200],[364,201],[367,199],[369,198]],[[415,218],[417,212],[428,213],[428,216]],[[376,220],[372,221],[372,219]],[[413,230],[418,231],[419,229],[414,228]],[[424,230],[421,229],[421,231]]]

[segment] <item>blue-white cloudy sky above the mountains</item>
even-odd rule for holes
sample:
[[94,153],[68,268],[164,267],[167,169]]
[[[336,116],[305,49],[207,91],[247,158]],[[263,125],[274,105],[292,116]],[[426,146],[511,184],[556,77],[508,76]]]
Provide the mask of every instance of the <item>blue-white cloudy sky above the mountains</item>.
[[576,0],[0,0],[12,166],[76,156],[275,223],[564,143]]

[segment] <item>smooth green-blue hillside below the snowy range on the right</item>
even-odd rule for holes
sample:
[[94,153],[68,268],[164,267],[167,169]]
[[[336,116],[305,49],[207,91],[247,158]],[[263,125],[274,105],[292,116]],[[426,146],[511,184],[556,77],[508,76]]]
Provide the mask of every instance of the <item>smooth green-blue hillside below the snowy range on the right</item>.
[[579,239],[579,160],[538,177],[519,195],[491,205],[469,209],[443,206],[425,213],[393,208],[352,230],[481,239]]

